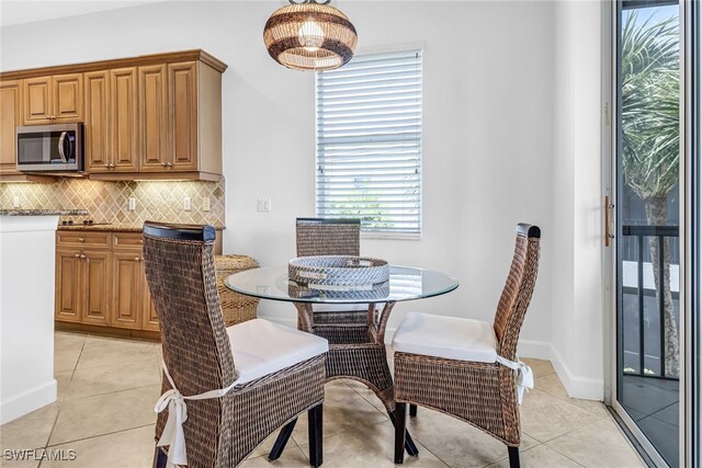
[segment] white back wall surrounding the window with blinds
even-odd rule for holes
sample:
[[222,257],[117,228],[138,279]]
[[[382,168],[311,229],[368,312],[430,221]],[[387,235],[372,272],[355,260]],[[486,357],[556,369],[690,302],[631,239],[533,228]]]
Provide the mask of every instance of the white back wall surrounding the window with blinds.
[[[314,76],[275,64],[262,43],[263,24],[280,4],[168,2],[3,27],[0,68],[196,47],[227,62],[225,251],[251,254],[262,265],[280,264],[295,253],[295,217],[315,215]],[[410,309],[491,319],[509,269],[513,226],[530,221],[542,227],[542,262],[522,329],[521,353],[552,357],[557,349],[571,373],[590,373],[587,363],[579,365],[579,357],[554,341],[568,343],[567,335],[590,318],[573,310],[564,313],[563,307],[575,307],[571,299],[580,274],[586,283],[593,282],[589,270],[578,272],[577,278],[574,272],[575,243],[581,240],[573,229],[577,209],[586,202],[576,204],[580,187],[574,171],[599,162],[598,155],[576,151],[569,134],[563,140],[553,136],[566,123],[566,130],[575,132],[580,106],[570,101],[581,84],[557,82],[564,71],[556,70],[554,61],[568,53],[554,48],[558,23],[554,3],[335,4],[359,31],[358,52],[418,43],[426,50],[423,236],[420,241],[364,239],[362,251],[394,263],[445,271],[461,281],[461,287],[440,298],[398,305],[389,327]],[[575,70],[565,72],[575,78]],[[582,80],[591,77],[587,73]],[[559,113],[558,119],[554,113]],[[564,146],[569,151],[565,160],[556,151]],[[595,159],[578,161],[576,152]],[[272,213],[256,210],[261,196],[272,198]],[[563,289],[555,292],[555,283]],[[552,308],[558,317],[552,317]],[[259,310],[294,322],[288,305],[262,303]],[[558,333],[552,333],[552,327]]]

